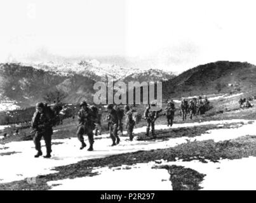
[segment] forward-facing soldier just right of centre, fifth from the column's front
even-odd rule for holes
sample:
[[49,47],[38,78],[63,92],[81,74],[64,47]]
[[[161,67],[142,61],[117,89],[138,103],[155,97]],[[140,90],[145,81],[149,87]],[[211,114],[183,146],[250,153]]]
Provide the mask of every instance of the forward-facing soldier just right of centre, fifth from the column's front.
[[155,107],[156,104],[152,103],[151,105],[148,105],[144,112],[144,119],[147,121],[147,131],[145,135],[149,136],[149,130],[151,128],[152,136],[153,138],[156,138],[156,134],[154,133],[154,122],[158,118],[158,112],[151,110],[151,106]]

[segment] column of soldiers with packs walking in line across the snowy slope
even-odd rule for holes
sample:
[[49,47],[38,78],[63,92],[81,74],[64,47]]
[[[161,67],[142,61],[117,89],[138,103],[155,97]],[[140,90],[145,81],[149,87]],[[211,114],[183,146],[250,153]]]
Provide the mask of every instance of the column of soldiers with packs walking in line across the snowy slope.
[[[191,100],[187,102],[185,99],[182,100],[180,105],[180,111],[182,113],[182,119],[186,119],[187,113],[190,114],[192,119],[192,115],[199,114],[201,105],[208,105],[207,98],[205,101],[201,101],[199,98],[198,101]],[[93,143],[94,143],[94,134],[93,130],[95,130],[95,135],[101,134],[101,117],[102,115],[98,111],[98,108],[95,106],[88,106],[86,101],[81,102],[81,109],[77,114],[78,125],[77,125],[77,138],[81,142],[80,149],[86,147],[86,143],[84,142],[84,134],[88,136],[88,141],[90,147],[88,151],[93,151]],[[151,130],[152,137],[156,138],[155,133],[155,122],[156,119],[161,114],[162,110],[155,110],[156,103],[151,103],[144,111],[144,119],[147,122],[147,128],[145,136],[149,136],[149,132]],[[134,112],[132,108],[128,105],[125,105],[124,109],[121,109],[117,105],[107,105],[107,120],[109,123],[109,134],[112,140],[112,145],[118,145],[120,142],[119,135],[123,135],[123,117],[125,116],[125,126],[127,129],[128,136],[130,141],[133,140],[133,129],[135,124],[137,123],[137,119],[134,117]],[[53,126],[56,125],[56,121],[54,121],[54,111],[50,110],[50,107],[44,105],[44,103],[36,104],[36,112],[32,117],[32,129],[34,133],[34,144],[36,146],[37,154],[35,157],[40,157],[43,155],[41,151],[41,138],[44,138],[46,143],[46,155],[44,157],[51,157],[51,135],[53,134]],[[173,119],[175,115],[175,104],[173,100],[168,101],[167,107],[165,108],[165,114],[167,118],[167,125],[173,125]]]

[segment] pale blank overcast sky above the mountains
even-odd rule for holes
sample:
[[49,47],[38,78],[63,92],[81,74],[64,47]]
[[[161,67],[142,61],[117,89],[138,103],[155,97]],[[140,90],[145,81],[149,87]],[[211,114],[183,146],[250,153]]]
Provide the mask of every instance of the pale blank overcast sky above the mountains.
[[175,72],[217,60],[256,64],[254,2],[1,0],[0,61],[43,52]]

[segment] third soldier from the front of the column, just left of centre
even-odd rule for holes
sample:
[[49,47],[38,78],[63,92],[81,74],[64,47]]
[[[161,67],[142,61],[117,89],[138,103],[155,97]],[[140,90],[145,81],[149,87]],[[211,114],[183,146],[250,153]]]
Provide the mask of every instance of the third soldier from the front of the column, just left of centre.
[[118,145],[120,142],[120,138],[118,136],[118,114],[116,110],[114,110],[113,105],[107,105],[107,111],[109,112],[108,120],[109,120],[109,133],[112,139],[112,145]]

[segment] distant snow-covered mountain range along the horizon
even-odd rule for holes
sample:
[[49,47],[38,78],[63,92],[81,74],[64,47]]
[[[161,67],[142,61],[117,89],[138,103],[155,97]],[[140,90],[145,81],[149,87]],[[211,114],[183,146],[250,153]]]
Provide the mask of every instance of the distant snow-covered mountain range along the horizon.
[[83,60],[74,63],[21,63],[21,65],[31,66],[35,69],[55,72],[58,75],[69,76],[73,74],[90,77],[94,81],[106,81],[107,77],[112,77],[114,81],[165,81],[172,79],[172,72],[165,72],[158,69],[141,70],[138,68],[121,67],[100,63],[98,60]]

